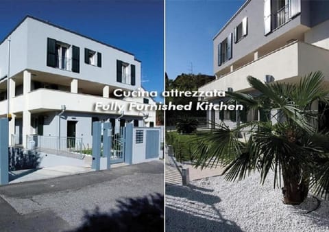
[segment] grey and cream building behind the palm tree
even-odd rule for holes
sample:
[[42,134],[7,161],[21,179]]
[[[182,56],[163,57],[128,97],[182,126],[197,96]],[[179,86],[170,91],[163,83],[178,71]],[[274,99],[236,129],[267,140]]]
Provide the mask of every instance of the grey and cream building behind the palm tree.
[[[201,91],[253,93],[247,76],[264,82],[296,82],[322,71],[329,83],[329,1],[247,0],[213,38],[216,80]],[[219,104],[222,99],[207,98]],[[321,104],[313,109],[323,111]],[[241,112],[241,121],[260,119]],[[235,125],[235,111],[208,111],[207,119]]]

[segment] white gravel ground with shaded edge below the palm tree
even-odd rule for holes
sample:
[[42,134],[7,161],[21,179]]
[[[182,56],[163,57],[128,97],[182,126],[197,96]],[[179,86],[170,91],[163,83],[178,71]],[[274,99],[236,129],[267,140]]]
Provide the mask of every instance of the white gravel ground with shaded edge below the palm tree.
[[284,205],[273,177],[259,174],[228,182],[223,176],[166,187],[166,231],[329,231],[329,201],[312,196],[298,206]]

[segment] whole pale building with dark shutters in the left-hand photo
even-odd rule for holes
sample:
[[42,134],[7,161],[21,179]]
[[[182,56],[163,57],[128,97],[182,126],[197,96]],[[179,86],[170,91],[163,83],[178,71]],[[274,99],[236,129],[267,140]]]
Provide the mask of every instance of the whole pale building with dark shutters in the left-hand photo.
[[[155,124],[155,111],[128,110],[131,102],[156,104],[150,97],[113,94],[143,90],[141,62],[127,51],[27,16],[1,41],[0,54],[0,117],[8,113],[9,79],[12,146],[38,135],[81,138],[91,148],[93,121],[111,121],[113,132],[131,121]],[[95,111],[97,102],[124,109]]]

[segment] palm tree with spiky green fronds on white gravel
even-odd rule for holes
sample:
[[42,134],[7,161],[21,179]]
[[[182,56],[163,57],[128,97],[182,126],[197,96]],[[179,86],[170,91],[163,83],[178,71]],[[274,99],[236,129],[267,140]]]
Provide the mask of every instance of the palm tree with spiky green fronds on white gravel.
[[[263,184],[270,170],[273,186],[282,186],[284,203],[300,204],[308,189],[329,194],[329,136],[317,130],[315,102],[328,104],[320,71],[310,73],[297,84],[264,84],[247,77],[258,93],[230,93],[232,102],[256,110],[260,120],[229,128],[221,122],[215,130],[199,133],[192,159],[197,167],[226,165],[226,180],[241,180],[258,170]],[[241,139],[241,135],[243,139]],[[329,196],[329,195],[328,195]]]

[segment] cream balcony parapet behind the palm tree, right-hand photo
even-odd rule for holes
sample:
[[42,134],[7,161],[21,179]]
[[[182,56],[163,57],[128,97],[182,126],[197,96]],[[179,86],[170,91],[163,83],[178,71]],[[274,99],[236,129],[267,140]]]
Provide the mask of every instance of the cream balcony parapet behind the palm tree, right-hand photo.
[[295,41],[209,82],[199,90],[226,91],[231,87],[233,91],[249,91],[247,76],[264,80],[265,76],[270,75],[275,81],[295,82],[297,77],[311,71],[322,71],[329,81],[328,60],[329,50]]

